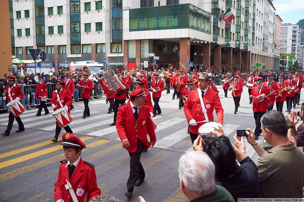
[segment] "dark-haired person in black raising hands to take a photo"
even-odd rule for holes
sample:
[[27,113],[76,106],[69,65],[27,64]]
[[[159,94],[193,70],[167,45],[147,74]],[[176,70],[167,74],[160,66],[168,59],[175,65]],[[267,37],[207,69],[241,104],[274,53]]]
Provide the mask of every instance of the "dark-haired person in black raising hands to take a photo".
[[257,166],[245,152],[234,147],[228,137],[221,135],[201,141],[198,137],[194,141],[193,149],[206,152],[210,156],[215,165],[216,185],[225,187],[235,201],[238,198],[259,198]]

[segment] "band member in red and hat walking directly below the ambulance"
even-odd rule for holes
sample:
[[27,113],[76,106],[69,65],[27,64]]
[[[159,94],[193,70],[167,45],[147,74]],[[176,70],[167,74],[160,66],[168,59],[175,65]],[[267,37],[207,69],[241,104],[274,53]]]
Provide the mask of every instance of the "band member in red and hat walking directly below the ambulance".
[[89,108],[89,99],[91,95],[91,90],[93,89],[93,83],[91,80],[89,80],[89,75],[87,72],[83,72],[83,80],[81,80],[76,86],[83,86],[81,87],[81,97],[83,100],[83,103],[85,105],[85,110],[83,111],[83,116],[82,118],[86,118],[90,116],[90,108]]

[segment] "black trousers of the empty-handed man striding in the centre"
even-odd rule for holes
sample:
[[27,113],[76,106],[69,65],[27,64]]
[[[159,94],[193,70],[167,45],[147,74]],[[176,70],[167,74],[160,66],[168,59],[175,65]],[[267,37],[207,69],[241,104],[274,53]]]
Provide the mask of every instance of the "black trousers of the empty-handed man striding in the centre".
[[143,179],[145,178],[145,170],[143,169],[143,165],[140,162],[140,155],[143,151],[143,148],[145,146],[143,145],[142,141],[137,138],[137,150],[136,153],[129,152],[130,155],[130,175],[129,179],[127,181],[127,189],[128,191],[133,192],[133,188],[136,184],[137,179]]

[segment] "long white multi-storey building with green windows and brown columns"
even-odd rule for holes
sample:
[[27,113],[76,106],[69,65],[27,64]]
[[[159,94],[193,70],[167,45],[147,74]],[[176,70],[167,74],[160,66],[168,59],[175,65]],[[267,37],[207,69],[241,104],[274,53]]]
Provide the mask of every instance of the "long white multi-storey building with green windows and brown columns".
[[[235,16],[228,25],[226,9]],[[10,13],[14,57],[45,50],[51,68],[105,56],[110,69],[152,67],[146,54],[154,53],[156,65],[179,69],[188,62],[203,71],[254,70],[256,62],[273,69],[269,0],[19,0]]]

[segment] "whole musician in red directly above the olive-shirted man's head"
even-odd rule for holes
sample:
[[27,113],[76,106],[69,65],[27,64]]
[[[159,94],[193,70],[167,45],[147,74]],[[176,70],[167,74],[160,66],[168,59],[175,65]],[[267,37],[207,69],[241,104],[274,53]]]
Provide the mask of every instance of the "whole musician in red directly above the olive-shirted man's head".
[[[257,77],[256,80],[257,86],[254,86],[252,88],[251,94],[249,96],[250,98],[253,98],[253,116],[255,120],[255,130],[254,130],[254,139],[257,140],[262,133],[261,130],[261,117],[264,113],[267,112],[267,101],[269,101],[269,97],[266,97],[270,94],[270,89],[263,86],[263,78]],[[264,94],[264,96],[259,96]],[[260,99],[258,99],[259,97]],[[257,104],[258,101],[263,100],[261,103]]]

